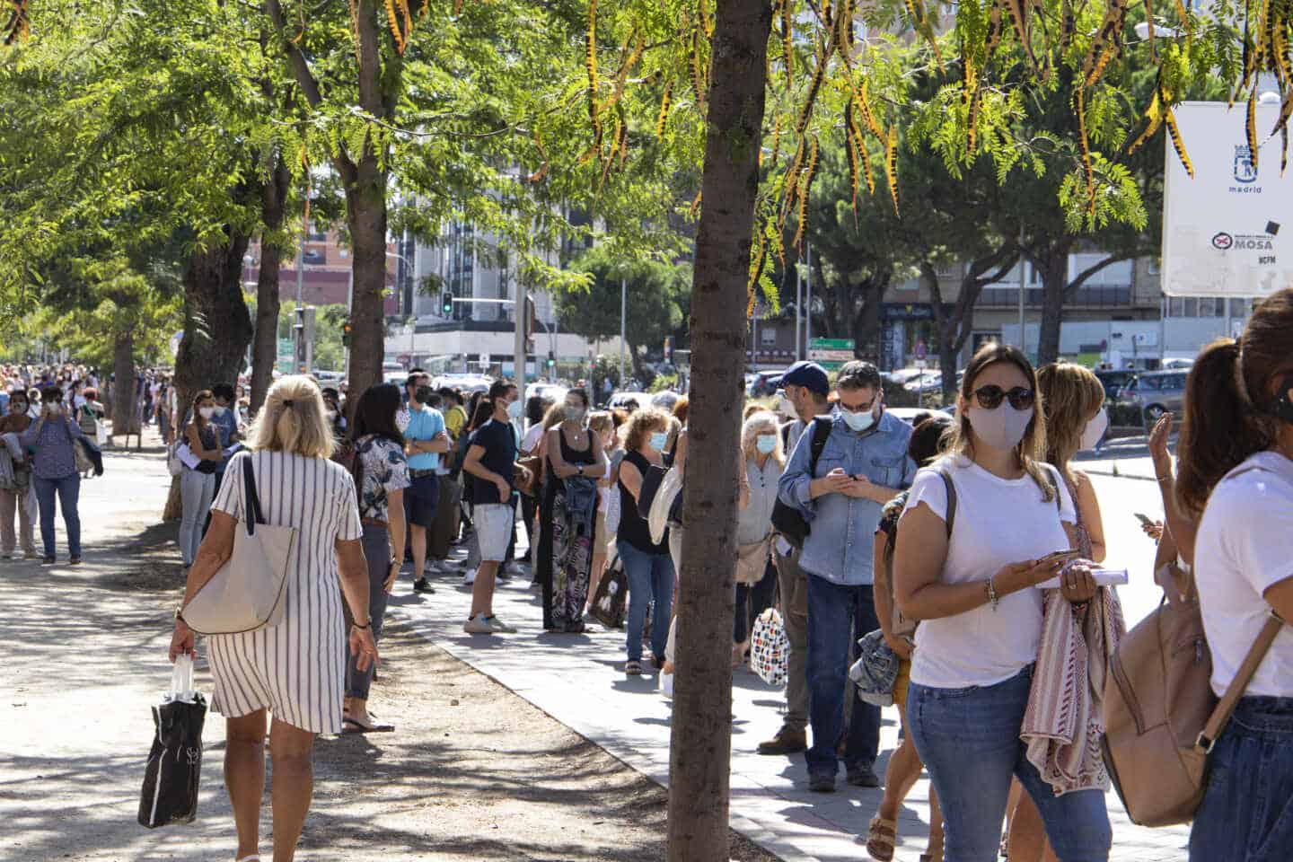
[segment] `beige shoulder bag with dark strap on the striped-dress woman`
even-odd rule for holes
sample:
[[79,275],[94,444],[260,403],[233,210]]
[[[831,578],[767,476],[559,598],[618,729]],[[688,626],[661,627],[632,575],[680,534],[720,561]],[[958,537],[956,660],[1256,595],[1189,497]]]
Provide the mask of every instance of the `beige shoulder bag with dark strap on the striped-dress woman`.
[[265,523],[251,456],[240,460],[243,517],[233,554],[184,606],[185,624],[199,635],[255,632],[283,622],[287,573],[296,565],[296,527]]

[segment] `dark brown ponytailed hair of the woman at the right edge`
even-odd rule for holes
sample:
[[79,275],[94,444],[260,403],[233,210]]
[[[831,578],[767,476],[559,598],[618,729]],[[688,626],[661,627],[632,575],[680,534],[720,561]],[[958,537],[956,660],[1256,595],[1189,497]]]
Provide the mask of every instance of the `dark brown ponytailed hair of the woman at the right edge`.
[[1197,521],[1222,478],[1276,438],[1274,393],[1293,370],[1293,289],[1266,299],[1239,341],[1213,341],[1190,370],[1177,446],[1177,504]]

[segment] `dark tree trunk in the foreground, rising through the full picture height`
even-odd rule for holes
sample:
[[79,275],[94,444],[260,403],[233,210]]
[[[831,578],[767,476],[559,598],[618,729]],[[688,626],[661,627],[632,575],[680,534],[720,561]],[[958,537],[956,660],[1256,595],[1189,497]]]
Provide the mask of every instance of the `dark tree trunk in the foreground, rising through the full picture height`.
[[745,318],[772,6],[719,0],[692,286],[692,414],[678,681],[670,746],[668,862],[731,858],[732,614]]

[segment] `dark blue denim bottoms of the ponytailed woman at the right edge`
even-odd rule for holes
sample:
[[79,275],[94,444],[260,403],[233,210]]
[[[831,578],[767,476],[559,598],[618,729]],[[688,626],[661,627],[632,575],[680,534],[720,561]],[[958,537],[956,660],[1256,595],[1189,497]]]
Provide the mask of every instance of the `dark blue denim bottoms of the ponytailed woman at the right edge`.
[[1208,759],[1190,862],[1293,856],[1293,698],[1240,698]]

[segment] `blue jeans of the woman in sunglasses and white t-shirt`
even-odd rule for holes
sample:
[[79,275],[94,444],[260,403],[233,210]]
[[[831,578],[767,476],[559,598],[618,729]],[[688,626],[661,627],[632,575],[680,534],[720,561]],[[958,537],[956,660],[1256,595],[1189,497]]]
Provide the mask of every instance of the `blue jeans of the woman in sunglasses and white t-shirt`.
[[[943,806],[945,862],[994,862],[1011,775],[1037,804],[1062,862],[1104,862],[1113,832],[1104,792],[1055,796],[1024,756],[1019,729],[1032,666],[997,685],[935,689],[912,682],[906,722]],[[1212,862],[1212,859],[1209,859]]]

